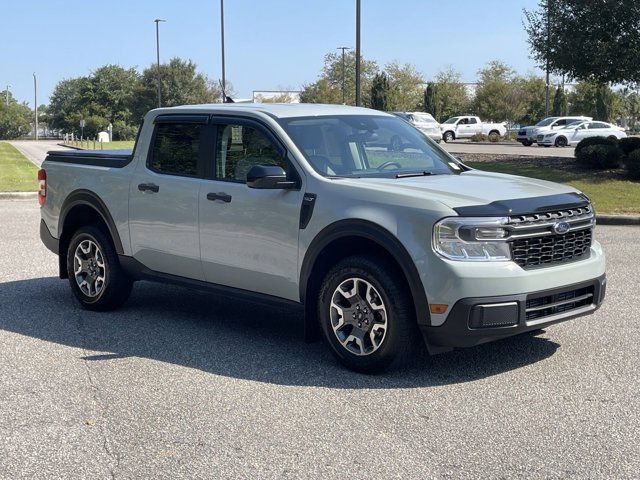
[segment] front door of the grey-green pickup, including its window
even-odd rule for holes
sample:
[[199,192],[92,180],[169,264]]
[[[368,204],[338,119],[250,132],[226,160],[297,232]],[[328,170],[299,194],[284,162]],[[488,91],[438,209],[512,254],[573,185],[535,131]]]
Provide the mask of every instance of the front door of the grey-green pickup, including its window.
[[200,248],[207,282],[299,299],[298,232],[303,191],[260,190],[246,184],[254,165],[300,174],[262,124],[217,123],[215,168],[199,192]]

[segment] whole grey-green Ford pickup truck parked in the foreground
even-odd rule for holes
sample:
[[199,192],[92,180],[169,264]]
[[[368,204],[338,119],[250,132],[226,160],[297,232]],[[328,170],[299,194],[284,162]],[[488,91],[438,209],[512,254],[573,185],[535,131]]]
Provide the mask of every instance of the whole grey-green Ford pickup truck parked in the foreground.
[[377,371],[594,312],[589,199],[468,168],[407,122],[347,106],[149,112],[133,152],[50,152],[40,236],[88,309],[136,280],[302,305],[347,367]]

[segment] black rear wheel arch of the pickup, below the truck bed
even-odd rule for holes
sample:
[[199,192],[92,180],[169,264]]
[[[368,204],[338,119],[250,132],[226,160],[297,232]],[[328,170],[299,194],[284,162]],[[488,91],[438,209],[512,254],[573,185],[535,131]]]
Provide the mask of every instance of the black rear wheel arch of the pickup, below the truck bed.
[[75,190],[62,204],[58,219],[60,278],[66,278],[66,250],[73,232],[83,225],[96,223],[106,229],[116,253],[119,255],[124,253],[118,229],[102,199],[90,190]]

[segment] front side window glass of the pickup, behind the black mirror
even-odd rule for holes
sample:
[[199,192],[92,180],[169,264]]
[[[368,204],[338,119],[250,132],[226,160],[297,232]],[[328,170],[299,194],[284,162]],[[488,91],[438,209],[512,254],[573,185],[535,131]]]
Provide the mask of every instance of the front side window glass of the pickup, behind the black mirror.
[[216,142],[216,179],[245,182],[255,165],[278,165],[287,170],[279,149],[259,129],[247,125],[220,125]]

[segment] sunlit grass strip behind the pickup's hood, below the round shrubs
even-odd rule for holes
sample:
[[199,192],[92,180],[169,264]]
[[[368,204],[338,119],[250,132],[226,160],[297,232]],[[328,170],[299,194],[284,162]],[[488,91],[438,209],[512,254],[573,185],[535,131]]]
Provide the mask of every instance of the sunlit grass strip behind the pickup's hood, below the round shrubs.
[[621,172],[584,171],[566,165],[540,165],[527,161],[465,162],[490,172],[509,173],[571,185],[587,194],[603,214],[640,214],[640,182],[624,180]]

